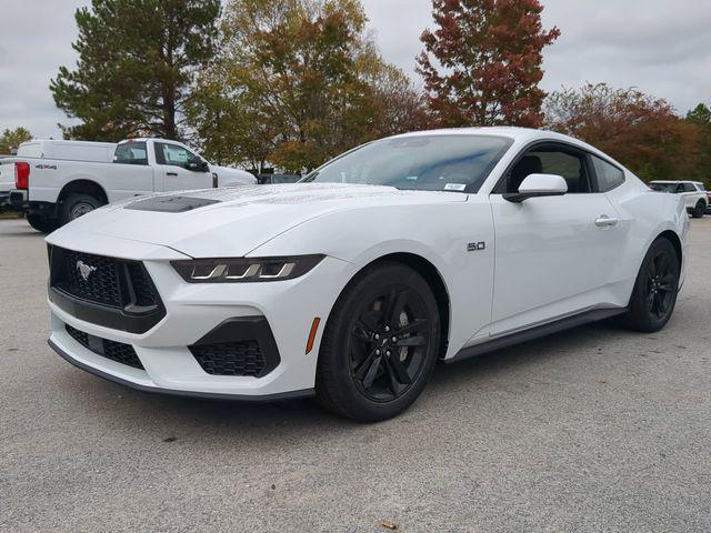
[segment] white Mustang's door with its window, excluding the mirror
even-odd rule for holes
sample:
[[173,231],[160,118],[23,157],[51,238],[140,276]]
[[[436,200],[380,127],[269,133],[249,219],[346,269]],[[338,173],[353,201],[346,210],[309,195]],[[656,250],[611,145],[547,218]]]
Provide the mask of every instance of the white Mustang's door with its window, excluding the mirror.
[[[529,174],[562,175],[568,193],[507,201]],[[563,318],[607,302],[605,264],[624,243],[618,213],[594,181],[590,155],[564,143],[528,148],[490,195],[495,230],[491,334]]]

